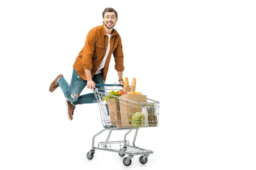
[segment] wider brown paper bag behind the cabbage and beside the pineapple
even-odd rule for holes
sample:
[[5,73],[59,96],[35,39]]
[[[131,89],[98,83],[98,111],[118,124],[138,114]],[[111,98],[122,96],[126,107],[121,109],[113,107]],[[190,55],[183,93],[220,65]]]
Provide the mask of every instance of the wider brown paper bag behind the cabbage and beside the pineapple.
[[134,113],[141,112],[143,105],[143,103],[137,102],[147,102],[147,96],[139,94],[125,94],[120,96],[119,109],[122,127],[134,127],[129,123],[129,119],[131,119]]

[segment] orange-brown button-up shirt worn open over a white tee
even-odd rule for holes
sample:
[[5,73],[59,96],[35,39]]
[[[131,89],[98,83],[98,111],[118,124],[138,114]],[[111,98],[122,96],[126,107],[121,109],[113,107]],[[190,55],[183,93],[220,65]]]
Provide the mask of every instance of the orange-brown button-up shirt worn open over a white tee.
[[[104,24],[97,26],[89,31],[86,37],[85,45],[76,57],[76,61],[73,65],[77,74],[84,80],[87,80],[84,68],[91,70],[92,77],[95,75],[99,68],[99,65],[103,61],[108,48],[108,35],[106,33]],[[110,52],[108,59],[102,68],[103,79],[106,81],[108,74],[108,66],[110,63],[111,55],[113,54],[115,59],[116,71],[124,71],[124,55],[122,51],[122,41],[120,35],[115,29],[112,31],[110,39]]]

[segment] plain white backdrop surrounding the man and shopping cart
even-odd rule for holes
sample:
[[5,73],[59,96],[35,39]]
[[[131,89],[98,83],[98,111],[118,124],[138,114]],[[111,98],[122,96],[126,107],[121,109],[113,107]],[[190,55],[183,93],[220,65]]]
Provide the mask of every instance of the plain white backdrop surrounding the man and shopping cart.
[[[1,1],[1,170],[256,169],[254,1],[167,2]],[[49,92],[58,74],[70,82],[106,7],[119,14],[123,77],[136,77],[137,91],[160,102],[159,127],[137,136],[137,146],[154,151],[145,165],[134,156],[125,167],[118,154],[101,150],[88,160],[103,129],[97,104],[77,105],[69,121],[61,89]],[[117,80],[112,59],[106,83]]]

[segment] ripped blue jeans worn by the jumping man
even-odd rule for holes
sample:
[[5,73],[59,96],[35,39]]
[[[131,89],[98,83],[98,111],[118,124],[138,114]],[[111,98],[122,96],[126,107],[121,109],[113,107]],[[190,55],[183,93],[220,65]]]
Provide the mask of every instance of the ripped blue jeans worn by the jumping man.
[[[93,82],[95,82],[96,84],[104,84],[102,73],[95,74],[93,76]],[[85,103],[97,103],[98,102],[94,96],[94,93],[89,93],[89,94],[84,94],[84,95],[79,96],[81,94],[81,92],[83,91],[83,89],[85,88],[85,86],[87,85],[87,80],[82,79],[76,73],[75,68],[73,68],[73,74],[72,74],[70,85],[64,79],[64,77],[61,77],[58,80],[57,84],[61,87],[61,90],[63,91],[64,96],[67,98],[67,100],[72,102],[73,105],[78,105],[78,104],[81,105],[81,104],[85,104]],[[96,86],[95,88],[104,89],[105,86]],[[99,91],[105,93],[105,90],[99,90]],[[72,94],[78,94],[78,97],[74,97]]]

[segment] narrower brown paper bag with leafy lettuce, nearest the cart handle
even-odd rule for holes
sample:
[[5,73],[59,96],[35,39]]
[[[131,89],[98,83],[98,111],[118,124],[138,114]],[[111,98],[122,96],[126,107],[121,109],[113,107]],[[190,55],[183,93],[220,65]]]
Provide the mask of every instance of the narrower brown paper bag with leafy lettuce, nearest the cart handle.
[[121,116],[119,102],[108,99],[108,112],[111,120],[111,125],[116,125],[116,127],[120,127],[119,125],[121,125]]

